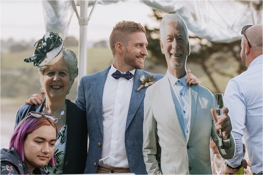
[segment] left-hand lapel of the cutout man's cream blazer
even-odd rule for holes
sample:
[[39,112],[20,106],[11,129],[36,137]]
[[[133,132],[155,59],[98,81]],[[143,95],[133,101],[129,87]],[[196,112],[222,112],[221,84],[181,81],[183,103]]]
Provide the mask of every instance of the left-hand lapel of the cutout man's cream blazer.
[[165,109],[167,110],[167,112],[173,116],[174,121],[175,121],[175,125],[176,125],[175,127],[179,128],[178,131],[180,132],[180,135],[182,136],[184,141],[186,141],[185,136],[182,132],[180,122],[178,120],[178,116],[177,116],[175,106],[174,106],[174,100],[172,98],[172,92],[171,92],[171,88],[169,85],[169,79],[168,79],[167,74],[164,76],[164,78],[162,78],[159,81],[162,81],[160,84],[160,86],[161,86],[160,87],[160,89],[161,89],[160,98],[162,98],[162,99],[160,99],[160,101],[162,101],[162,103],[163,103],[162,106],[165,106]]

